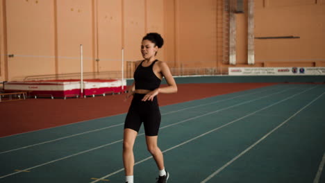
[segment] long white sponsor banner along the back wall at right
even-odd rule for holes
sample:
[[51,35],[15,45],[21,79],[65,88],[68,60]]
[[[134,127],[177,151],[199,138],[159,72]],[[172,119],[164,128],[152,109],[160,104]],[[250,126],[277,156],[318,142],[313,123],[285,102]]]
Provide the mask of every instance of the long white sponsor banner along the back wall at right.
[[325,75],[325,67],[228,67],[232,76],[307,76]]

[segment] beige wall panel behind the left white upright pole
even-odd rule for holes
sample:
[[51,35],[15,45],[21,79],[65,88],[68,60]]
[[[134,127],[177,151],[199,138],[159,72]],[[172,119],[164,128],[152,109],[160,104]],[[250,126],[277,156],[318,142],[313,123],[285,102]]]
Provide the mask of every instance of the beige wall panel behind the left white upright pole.
[[92,1],[65,0],[57,2],[58,73],[80,72],[80,44],[83,44],[83,71],[94,71]]

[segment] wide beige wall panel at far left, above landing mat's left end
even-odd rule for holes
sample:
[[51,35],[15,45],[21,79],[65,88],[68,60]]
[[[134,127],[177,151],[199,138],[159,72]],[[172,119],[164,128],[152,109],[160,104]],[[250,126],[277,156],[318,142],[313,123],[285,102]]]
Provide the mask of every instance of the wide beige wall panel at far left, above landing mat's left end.
[[6,12],[8,80],[55,73],[53,1],[6,1]]

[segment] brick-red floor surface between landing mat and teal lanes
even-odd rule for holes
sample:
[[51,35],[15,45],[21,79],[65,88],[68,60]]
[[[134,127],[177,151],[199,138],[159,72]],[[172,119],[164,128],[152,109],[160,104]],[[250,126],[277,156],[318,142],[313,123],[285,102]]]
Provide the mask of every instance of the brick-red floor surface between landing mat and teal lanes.
[[[160,106],[265,87],[274,83],[179,84],[177,94],[159,94]],[[0,137],[127,112],[125,94],[73,99],[28,99],[0,103]],[[123,121],[121,121],[123,122]]]

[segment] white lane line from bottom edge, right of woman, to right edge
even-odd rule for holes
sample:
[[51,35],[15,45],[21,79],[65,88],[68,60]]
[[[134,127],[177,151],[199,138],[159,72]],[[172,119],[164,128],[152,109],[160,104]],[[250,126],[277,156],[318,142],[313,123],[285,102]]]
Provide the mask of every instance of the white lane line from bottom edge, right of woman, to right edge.
[[238,156],[234,157],[233,159],[231,159],[231,161],[227,162],[226,164],[224,164],[224,166],[222,166],[221,168],[219,168],[217,171],[215,171],[214,173],[212,173],[211,175],[209,175],[208,177],[206,177],[205,180],[203,180],[201,183],[206,183],[208,182],[210,179],[212,179],[215,175],[217,175],[218,173],[220,173],[222,170],[224,170],[224,168],[226,168],[227,166],[229,166],[230,164],[232,164],[233,162],[235,162],[235,160],[237,160],[238,158],[242,157],[242,155],[244,155],[245,153],[247,153],[249,150],[251,150],[251,148],[255,147],[258,143],[260,143],[261,141],[263,141],[264,139],[266,139],[270,134],[272,134],[274,131],[276,131],[278,128],[280,128],[281,126],[283,126],[285,123],[287,123],[288,121],[290,121],[290,119],[292,119],[294,116],[296,116],[297,114],[299,114],[299,112],[301,112],[302,110],[306,109],[306,107],[308,107],[309,105],[311,105],[312,103],[314,103],[315,101],[317,101],[318,98],[320,98],[322,95],[324,95],[325,92],[321,95],[319,95],[317,98],[315,98],[313,101],[311,101],[310,103],[308,103],[307,105],[305,105],[304,107],[302,107],[299,111],[295,112],[292,116],[290,116],[288,119],[286,119],[285,121],[283,121],[280,125],[278,125],[276,128],[274,128],[273,130],[271,130],[270,132],[268,132],[267,134],[265,134],[262,138],[260,138],[258,141],[256,141],[255,143],[253,143],[251,146],[249,146],[249,148],[245,149],[244,151],[242,151],[242,153],[240,153]]

